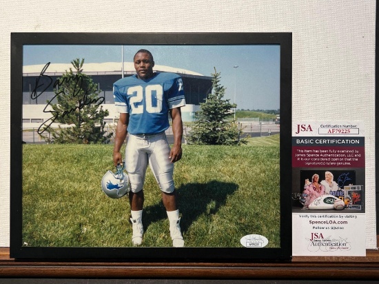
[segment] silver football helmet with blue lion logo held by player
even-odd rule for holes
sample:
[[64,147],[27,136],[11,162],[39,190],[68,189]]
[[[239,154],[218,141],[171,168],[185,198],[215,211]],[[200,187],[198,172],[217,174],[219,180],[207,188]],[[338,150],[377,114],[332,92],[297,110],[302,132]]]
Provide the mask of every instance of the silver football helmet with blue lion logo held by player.
[[129,179],[124,169],[125,163],[118,164],[115,173],[108,170],[101,179],[103,192],[112,199],[119,199],[130,191]]

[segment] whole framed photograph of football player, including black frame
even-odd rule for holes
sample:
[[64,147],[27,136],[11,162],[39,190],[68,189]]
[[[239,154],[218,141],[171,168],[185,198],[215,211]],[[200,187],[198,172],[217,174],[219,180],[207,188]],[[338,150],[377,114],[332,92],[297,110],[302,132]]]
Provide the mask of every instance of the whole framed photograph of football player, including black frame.
[[11,40],[12,258],[291,259],[291,33]]

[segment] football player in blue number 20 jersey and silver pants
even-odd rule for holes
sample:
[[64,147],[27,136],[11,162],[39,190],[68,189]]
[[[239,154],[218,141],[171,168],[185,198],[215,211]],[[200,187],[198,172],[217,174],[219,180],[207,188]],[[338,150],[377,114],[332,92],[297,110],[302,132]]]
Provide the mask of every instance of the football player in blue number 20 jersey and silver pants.
[[[114,139],[114,165],[122,163],[120,153],[125,148],[125,170],[130,180],[130,207],[133,227],[132,243],[141,245],[143,238],[143,183],[150,165],[161,189],[163,205],[170,221],[170,236],[174,247],[183,247],[179,211],[174,187],[174,163],[182,156],[183,122],[181,107],[185,105],[183,81],[177,74],[153,72],[154,59],[150,51],[139,50],[134,55],[136,75],[125,77],[113,85],[114,101],[120,112]],[[165,136],[172,118],[174,145],[170,148]]]

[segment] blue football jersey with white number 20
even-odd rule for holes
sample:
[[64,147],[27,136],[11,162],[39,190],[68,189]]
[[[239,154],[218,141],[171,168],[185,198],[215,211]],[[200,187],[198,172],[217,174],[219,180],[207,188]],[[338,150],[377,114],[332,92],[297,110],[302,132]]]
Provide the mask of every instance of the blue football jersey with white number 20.
[[170,72],[142,80],[133,75],[113,84],[116,111],[130,115],[127,132],[156,134],[169,128],[168,112],[185,105],[183,81]]

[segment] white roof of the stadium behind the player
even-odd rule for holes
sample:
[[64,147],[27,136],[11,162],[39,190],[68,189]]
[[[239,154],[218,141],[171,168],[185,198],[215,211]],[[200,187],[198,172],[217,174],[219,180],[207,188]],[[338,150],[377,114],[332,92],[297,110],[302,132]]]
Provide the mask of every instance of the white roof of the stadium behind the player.
[[[25,65],[23,66],[23,74],[40,74],[46,64],[38,64],[38,65]],[[48,73],[64,73],[66,70],[70,70],[72,68],[71,63],[50,63],[49,67],[45,70],[45,74]],[[83,64],[83,72],[121,72],[121,62],[105,62],[105,63],[84,63]],[[182,68],[175,68],[165,65],[155,65],[154,71],[162,71],[162,72],[173,72],[173,73],[181,73],[181,74],[190,74],[203,76],[203,74],[193,72],[190,70],[185,70]],[[135,72],[134,63],[133,62],[124,62],[124,72],[130,74],[131,72]]]

